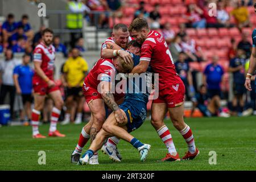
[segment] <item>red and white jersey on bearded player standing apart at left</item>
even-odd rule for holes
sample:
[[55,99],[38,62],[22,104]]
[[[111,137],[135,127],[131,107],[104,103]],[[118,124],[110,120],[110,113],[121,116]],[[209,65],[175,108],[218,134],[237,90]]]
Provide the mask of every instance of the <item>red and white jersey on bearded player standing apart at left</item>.
[[[55,61],[55,47],[46,46],[43,42],[38,44],[34,49],[34,61],[41,62],[41,68],[48,78],[53,79],[53,69]],[[35,77],[39,77],[35,73]]]

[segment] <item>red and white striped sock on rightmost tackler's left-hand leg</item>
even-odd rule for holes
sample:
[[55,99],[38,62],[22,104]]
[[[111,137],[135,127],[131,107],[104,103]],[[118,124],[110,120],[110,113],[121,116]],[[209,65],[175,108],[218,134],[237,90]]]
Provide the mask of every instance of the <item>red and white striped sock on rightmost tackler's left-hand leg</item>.
[[171,155],[176,156],[177,151],[174,146],[174,141],[172,140],[172,135],[166,125],[162,126],[158,131],[157,131],[159,137],[162,139],[163,143],[166,145],[168,152]]

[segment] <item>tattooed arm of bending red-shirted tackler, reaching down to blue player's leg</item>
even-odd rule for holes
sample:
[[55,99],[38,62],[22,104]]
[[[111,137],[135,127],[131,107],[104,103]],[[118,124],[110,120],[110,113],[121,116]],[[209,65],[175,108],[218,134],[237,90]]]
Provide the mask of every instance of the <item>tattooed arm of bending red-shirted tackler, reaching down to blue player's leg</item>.
[[110,92],[111,90],[111,82],[101,81],[101,97],[103,98],[106,105],[109,106],[115,113],[115,119],[117,119],[118,123],[125,122],[126,115],[121,111],[118,107],[117,102],[115,102],[113,94]]

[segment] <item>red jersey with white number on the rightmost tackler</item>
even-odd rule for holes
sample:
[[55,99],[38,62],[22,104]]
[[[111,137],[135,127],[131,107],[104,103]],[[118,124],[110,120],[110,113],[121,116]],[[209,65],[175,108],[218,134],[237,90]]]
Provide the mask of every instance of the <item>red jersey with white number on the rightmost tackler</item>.
[[140,61],[150,61],[154,73],[159,73],[159,90],[182,82],[166,40],[159,32],[150,31],[148,34],[142,44]]

